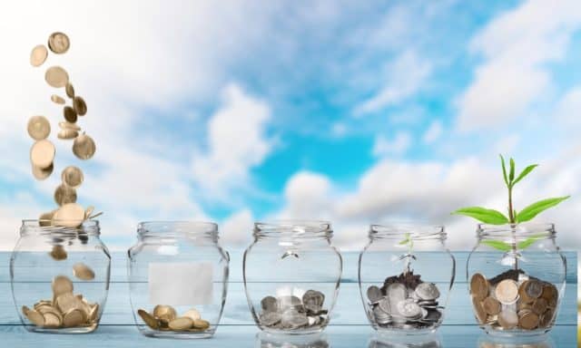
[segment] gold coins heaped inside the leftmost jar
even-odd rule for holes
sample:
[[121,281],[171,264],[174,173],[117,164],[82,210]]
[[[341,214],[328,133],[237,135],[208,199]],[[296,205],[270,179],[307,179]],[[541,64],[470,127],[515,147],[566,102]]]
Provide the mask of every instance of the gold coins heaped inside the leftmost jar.
[[[94,272],[84,264],[74,266],[74,275],[92,280]],[[99,304],[89,303],[81,294],[73,294],[73,282],[65,275],[57,275],[52,283],[53,297],[34,304],[33,309],[22,307],[30,323],[47,329],[96,326]]]

